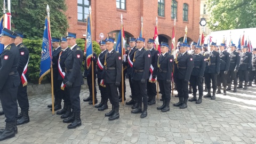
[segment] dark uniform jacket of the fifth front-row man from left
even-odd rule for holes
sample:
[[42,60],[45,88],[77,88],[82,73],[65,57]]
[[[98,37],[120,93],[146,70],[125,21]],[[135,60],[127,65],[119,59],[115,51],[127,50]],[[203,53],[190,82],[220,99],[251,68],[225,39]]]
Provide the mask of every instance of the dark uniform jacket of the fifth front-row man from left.
[[[158,80],[171,80],[172,69],[173,69],[173,55],[165,53],[160,55],[158,58],[158,68],[157,68],[157,79]],[[166,71],[166,72],[165,72]]]

